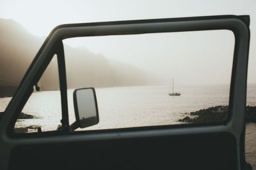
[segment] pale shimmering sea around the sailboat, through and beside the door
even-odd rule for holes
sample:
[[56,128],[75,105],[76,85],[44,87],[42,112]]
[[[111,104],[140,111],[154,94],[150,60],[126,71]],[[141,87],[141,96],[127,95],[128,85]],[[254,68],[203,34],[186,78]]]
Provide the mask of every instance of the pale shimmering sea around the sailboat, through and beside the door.
[[[191,111],[212,106],[227,106],[229,85],[180,85],[175,92],[181,96],[169,96],[168,86],[136,86],[96,88],[99,108],[99,124],[77,129],[118,129],[152,125],[184,124],[181,118]],[[69,122],[75,122],[74,89],[68,89]],[[4,111],[11,97],[0,98],[0,111]],[[256,84],[248,84],[247,105],[256,106]],[[60,91],[33,92],[23,113],[36,118],[16,122],[15,127],[40,126],[42,131],[55,131],[61,125]],[[29,129],[29,132],[35,130]],[[256,125],[246,124],[246,161],[256,169]]]

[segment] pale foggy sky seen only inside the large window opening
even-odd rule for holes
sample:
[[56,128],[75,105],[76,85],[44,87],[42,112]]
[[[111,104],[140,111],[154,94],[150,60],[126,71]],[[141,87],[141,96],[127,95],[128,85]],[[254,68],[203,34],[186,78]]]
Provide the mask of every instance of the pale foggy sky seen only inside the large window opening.
[[230,83],[234,34],[193,31],[65,39],[93,53],[134,65],[170,83]]

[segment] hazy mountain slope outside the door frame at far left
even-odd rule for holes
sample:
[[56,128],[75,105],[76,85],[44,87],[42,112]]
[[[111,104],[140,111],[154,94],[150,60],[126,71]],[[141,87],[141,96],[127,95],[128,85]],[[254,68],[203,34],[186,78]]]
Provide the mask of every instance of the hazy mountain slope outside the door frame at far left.
[[14,20],[0,18],[0,97],[12,96],[43,39]]

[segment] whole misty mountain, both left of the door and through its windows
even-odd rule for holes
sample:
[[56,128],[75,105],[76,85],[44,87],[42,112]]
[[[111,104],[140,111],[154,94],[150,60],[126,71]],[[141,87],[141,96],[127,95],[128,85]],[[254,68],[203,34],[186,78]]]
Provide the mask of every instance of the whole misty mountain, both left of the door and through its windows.
[[[0,97],[12,96],[44,43],[44,38],[33,36],[10,19],[0,18],[0,32]],[[148,84],[147,74],[137,67],[108,60],[104,55],[92,53],[85,47],[64,46],[68,88]],[[59,89],[56,56],[38,85],[42,90]]]

